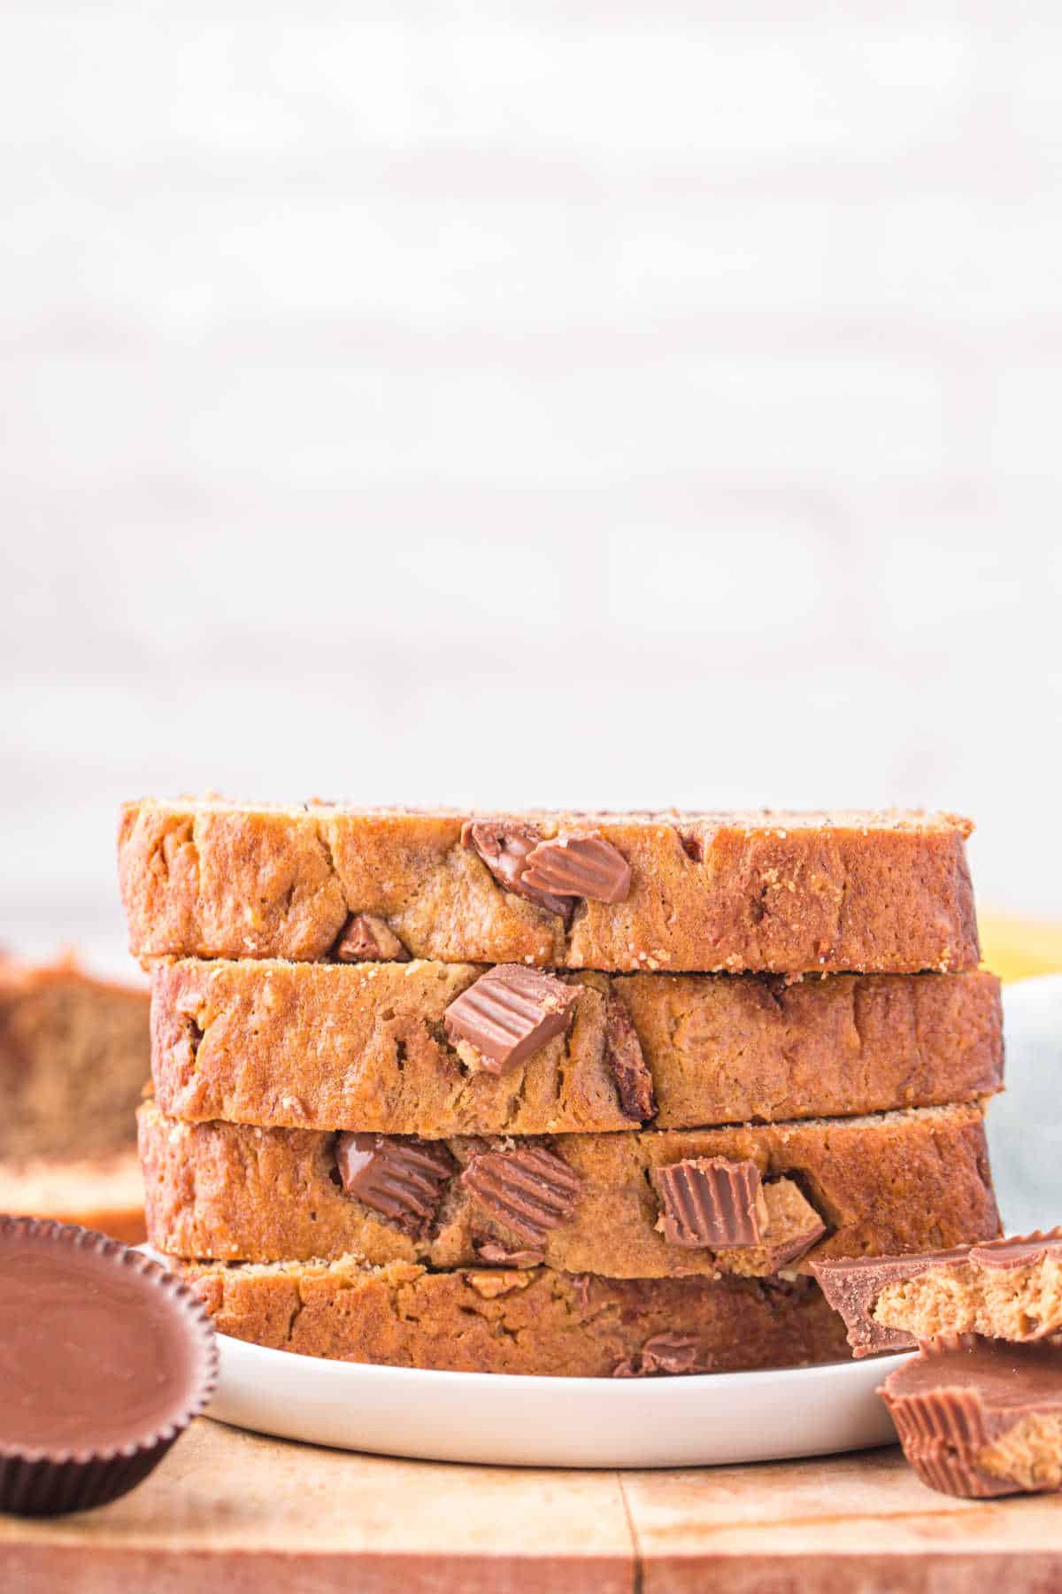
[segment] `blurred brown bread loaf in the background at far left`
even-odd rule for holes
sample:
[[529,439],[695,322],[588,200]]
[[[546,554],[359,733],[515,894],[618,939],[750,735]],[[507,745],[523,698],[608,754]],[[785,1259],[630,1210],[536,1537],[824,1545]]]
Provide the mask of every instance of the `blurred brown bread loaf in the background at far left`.
[[0,1159],[132,1146],[148,1068],[146,990],[0,958]]

